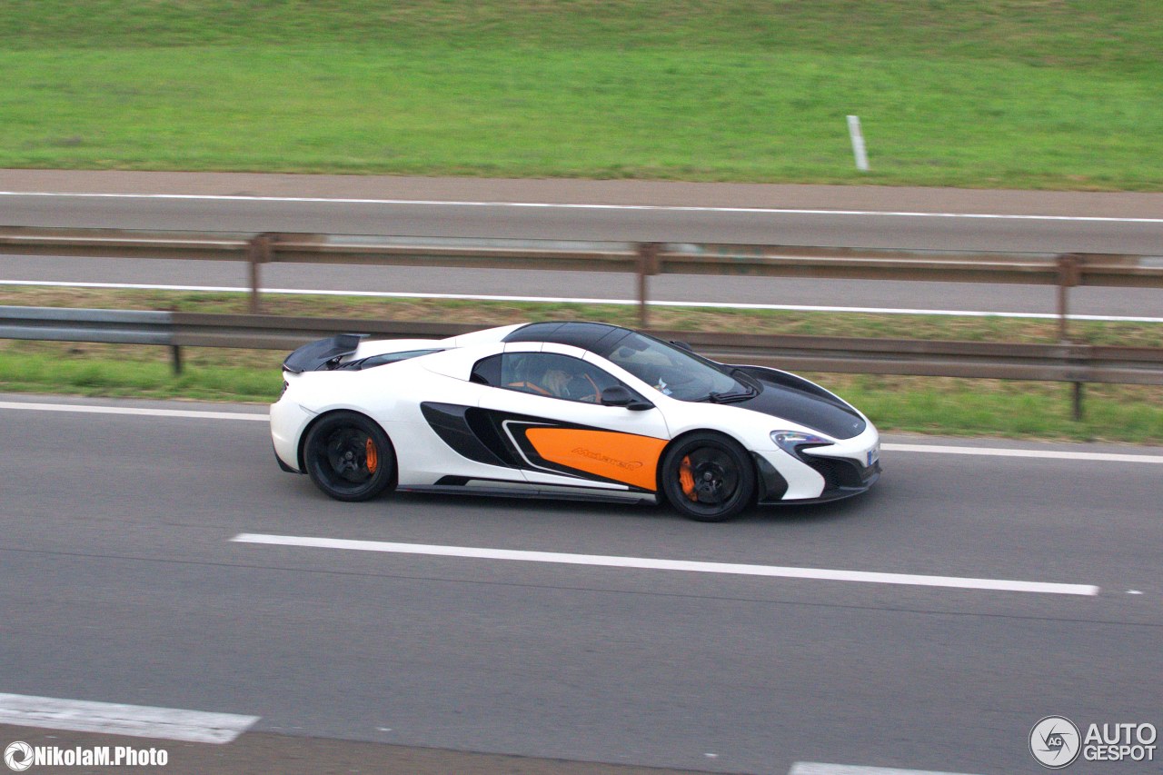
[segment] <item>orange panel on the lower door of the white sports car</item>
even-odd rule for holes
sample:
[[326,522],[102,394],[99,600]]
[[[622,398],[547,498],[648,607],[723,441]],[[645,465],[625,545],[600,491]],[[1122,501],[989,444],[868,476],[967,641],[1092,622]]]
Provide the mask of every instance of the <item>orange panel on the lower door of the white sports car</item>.
[[525,435],[548,461],[651,492],[657,489],[658,456],[665,439],[576,428],[527,428]]

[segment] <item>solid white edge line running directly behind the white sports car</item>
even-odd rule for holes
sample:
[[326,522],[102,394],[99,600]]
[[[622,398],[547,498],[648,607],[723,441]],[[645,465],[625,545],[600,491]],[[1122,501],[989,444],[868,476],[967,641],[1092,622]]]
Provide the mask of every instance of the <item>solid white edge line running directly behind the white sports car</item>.
[[[172,417],[193,420],[254,420],[266,422],[267,414],[252,412],[213,412],[202,410],[138,408],[133,406],[97,406],[91,404],[43,404],[0,401],[0,410],[29,412],[78,412],[83,414],[130,414],[142,417]],[[1044,460],[1083,460],[1105,463],[1163,464],[1163,455],[1123,455],[1118,453],[1077,453],[1056,449],[1006,449],[1004,447],[946,447],[941,445],[898,445],[884,442],[884,452],[932,453],[936,455],[979,455],[984,457],[1034,457]]]

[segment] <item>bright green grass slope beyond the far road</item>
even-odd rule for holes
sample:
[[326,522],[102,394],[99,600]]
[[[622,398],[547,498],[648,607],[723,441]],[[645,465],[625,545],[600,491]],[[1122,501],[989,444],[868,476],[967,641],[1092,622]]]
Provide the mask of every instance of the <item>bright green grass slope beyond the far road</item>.
[[43,0],[0,41],[0,166],[1163,190],[1155,0]]

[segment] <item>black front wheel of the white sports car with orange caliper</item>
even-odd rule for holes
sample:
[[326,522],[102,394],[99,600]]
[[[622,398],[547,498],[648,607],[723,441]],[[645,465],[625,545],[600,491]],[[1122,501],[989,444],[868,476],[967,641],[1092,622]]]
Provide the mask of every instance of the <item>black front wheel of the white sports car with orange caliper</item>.
[[666,450],[658,474],[662,493],[684,517],[721,522],[751,503],[755,465],[735,441],[718,433],[683,436]]

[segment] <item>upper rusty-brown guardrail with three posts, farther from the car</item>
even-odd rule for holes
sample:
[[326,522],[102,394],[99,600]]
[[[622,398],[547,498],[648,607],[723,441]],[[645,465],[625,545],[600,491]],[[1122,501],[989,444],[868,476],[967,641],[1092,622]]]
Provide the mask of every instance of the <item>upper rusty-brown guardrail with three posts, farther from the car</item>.
[[2,227],[0,254],[242,261],[250,265],[252,314],[261,312],[259,280],[266,263],[627,272],[637,276],[643,328],[649,326],[649,278],[669,273],[1056,285],[1063,340],[1069,289],[1163,287],[1163,257],[1094,253]]

